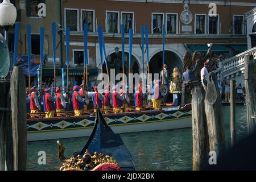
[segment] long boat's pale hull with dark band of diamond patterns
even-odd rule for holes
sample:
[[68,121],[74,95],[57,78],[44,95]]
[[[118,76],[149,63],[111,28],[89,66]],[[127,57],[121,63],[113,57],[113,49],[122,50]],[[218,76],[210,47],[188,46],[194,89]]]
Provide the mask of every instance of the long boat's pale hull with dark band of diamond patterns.
[[[130,111],[103,116],[117,134],[192,127],[191,104],[180,109],[170,106],[162,110]],[[81,117],[27,119],[27,139],[36,141],[90,136],[95,118],[94,114]]]

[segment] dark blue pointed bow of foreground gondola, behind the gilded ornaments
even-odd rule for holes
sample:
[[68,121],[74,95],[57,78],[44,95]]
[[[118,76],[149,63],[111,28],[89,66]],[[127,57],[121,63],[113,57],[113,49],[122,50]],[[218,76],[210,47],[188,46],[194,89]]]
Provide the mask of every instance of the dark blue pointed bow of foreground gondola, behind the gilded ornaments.
[[97,151],[99,154],[112,156],[117,160],[118,166],[123,171],[134,171],[133,158],[119,134],[115,134],[105,122],[100,109],[97,106],[96,121],[88,141],[82,149],[80,155],[84,155],[85,150],[90,153]]

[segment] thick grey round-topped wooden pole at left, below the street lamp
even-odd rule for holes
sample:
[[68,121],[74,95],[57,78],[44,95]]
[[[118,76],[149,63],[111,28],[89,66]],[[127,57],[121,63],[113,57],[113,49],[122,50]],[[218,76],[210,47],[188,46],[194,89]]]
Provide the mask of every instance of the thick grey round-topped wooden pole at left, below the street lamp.
[[26,81],[22,67],[11,75],[11,118],[13,123],[14,171],[25,171],[27,161]]

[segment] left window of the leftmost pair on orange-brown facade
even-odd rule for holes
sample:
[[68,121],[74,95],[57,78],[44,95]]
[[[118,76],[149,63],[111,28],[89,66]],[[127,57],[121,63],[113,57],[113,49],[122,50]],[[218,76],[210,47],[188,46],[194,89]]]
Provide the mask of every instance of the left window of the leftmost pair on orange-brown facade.
[[65,9],[65,27],[71,31],[79,31],[79,10]]

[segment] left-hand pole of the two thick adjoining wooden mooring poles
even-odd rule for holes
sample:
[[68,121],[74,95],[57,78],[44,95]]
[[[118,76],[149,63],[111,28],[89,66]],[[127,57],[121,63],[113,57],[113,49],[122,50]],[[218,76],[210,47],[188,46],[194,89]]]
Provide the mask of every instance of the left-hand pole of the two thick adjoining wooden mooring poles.
[[193,171],[203,169],[209,154],[209,137],[204,110],[205,91],[195,86],[192,96]]

